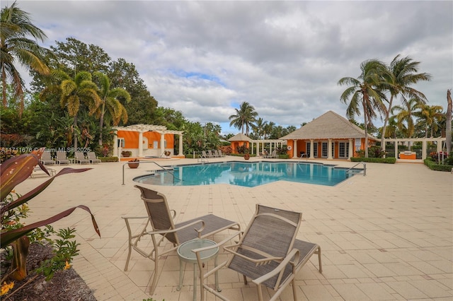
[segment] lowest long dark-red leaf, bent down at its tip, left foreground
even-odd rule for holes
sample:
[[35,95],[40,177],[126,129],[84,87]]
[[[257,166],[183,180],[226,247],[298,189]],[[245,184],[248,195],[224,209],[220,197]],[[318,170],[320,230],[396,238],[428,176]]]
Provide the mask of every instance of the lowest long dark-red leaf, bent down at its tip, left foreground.
[[91,221],[93,222],[93,228],[98,233],[99,237],[101,237],[101,232],[99,231],[98,223],[96,223],[96,219],[93,216],[93,213],[91,213],[90,208],[84,205],[79,205],[76,207],[69,208],[65,211],[62,211],[61,213],[58,213],[55,216],[52,216],[50,218],[47,218],[47,220],[40,220],[36,223],[32,223],[30,225],[26,225],[25,227],[10,230],[7,232],[2,232],[0,234],[0,247],[4,248],[8,244],[11,244],[11,242],[17,240],[19,237],[22,237],[23,235],[26,235],[28,232],[35,230],[36,228],[48,225],[50,223],[55,223],[57,220],[61,220],[62,218],[65,218],[66,216],[69,216],[76,208],[81,208],[84,209],[85,211],[88,211],[91,215]]

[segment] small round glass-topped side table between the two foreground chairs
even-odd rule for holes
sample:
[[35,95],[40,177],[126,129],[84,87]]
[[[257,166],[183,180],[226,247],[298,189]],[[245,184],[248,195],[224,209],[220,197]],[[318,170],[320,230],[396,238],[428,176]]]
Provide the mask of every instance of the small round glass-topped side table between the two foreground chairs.
[[[179,285],[178,288],[176,288],[176,290],[180,290],[181,287],[183,286],[183,261],[193,264],[193,301],[197,300],[197,255],[195,254],[195,252],[192,252],[192,250],[211,247],[214,244],[216,244],[216,242],[213,242],[212,240],[195,239],[189,240],[188,242],[183,242],[178,247]],[[214,265],[217,266],[218,253],[219,253],[218,247],[205,250],[200,252],[200,259],[203,263],[210,259],[214,259]],[[215,287],[217,291],[219,292],[221,291],[219,288],[219,278],[217,275],[217,271],[215,272]]]

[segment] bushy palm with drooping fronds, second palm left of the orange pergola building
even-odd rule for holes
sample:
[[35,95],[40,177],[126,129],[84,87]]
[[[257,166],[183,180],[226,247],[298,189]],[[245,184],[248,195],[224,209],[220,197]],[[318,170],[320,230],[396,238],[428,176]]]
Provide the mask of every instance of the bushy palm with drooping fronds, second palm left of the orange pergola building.
[[[74,81],[72,79],[62,81],[60,89],[62,91],[60,104],[67,107],[69,116],[74,117],[73,130],[77,131],[77,114],[80,106],[85,105],[88,108],[88,114],[92,115],[102,103],[97,93],[98,87],[91,81],[89,72],[81,71],[76,74]],[[74,149],[77,149],[77,137],[74,137]]]

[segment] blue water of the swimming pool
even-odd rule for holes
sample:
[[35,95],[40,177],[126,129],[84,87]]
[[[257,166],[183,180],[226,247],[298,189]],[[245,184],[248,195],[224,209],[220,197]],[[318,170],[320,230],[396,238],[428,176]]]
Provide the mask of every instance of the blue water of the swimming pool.
[[156,172],[134,179],[135,182],[167,186],[232,184],[256,187],[279,180],[334,186],[360,170],[316,163],[228,162],[180,165],[171,171]]

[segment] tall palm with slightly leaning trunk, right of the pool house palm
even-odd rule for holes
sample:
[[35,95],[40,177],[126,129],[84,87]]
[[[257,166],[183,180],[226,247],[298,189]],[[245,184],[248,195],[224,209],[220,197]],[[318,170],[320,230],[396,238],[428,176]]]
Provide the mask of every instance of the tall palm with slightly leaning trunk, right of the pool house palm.
[[389,106],[386,110],[384,119],[384,126],[382,127],[381,146],[385,151],[385,133],[387,122],[392,109],[394,98],[401,95],[403,103],[406,103],[406,97],[418,100],[418,102],[426,102],[426,97],[423,93],[411,88],[410,85],[418,83],[419,81],[430,81],[431,76],[428,73],[417,73],[420,61],[413,61],[410,57],[400,58],[398,54],[389,66],[389,72],[384,74],[386,83],[384,86],[390,92]]

